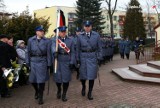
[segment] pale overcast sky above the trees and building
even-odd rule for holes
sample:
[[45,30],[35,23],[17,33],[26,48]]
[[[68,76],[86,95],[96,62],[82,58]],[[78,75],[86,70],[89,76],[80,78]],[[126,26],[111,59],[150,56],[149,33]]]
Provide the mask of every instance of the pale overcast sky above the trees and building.
[[[50,6],[75,6],[76,0],[3,0],[7,6],[6,10],[9,12],[22,12],[26,9],[26,6],[29,6],[29,10],[32,14],[33,10],[42,9],[44,7]],[[114,0],[113,0],[114,1]],[[128,4],[130,0],[118,0],[118,9],[125,7],[125,4]],[[142,8],[146,7],[146,0],[139,0]],[[103,3],[102,7],[106,6],[106,3]]]

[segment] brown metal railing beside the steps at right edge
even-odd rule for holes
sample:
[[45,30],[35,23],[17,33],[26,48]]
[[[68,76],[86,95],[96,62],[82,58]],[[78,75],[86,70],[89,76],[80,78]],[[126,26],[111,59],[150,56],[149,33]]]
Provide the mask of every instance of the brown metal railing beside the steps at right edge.
[[139,59],[136,58],[136,63],[146,63],[150,60],[160,60],[160,40],[138,48],[137,53]]

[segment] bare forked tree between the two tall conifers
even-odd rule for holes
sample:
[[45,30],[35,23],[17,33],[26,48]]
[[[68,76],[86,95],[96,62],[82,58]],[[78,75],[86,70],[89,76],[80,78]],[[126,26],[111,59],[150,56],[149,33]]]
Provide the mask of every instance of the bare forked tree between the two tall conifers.
[[116,10],[116,7],[117,7],[117,1],[118,0],[115,0],[114,2],[114,6],[112,6],[112,3],[113,3],[113,0],[105,0],[105,2],[107,3],[107,6],[108,6],[108,15],[109,15],[109,20],[110,20],[110,32],[111,32],[111,36],[114,35],[114,30],[113,30],[113,14]]

